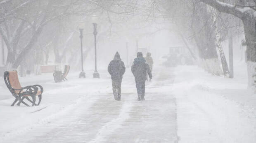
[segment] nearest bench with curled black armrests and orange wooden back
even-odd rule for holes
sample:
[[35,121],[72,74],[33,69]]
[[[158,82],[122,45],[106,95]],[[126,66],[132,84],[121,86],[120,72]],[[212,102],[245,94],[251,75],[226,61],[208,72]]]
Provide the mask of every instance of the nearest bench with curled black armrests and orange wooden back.
[[[40,104],[43,93],[43,87],[41,85],[29,85],[26,87],[21,87],[17,71],[5,71],[4,80],[7,88],[15,97],[15,100],[11,106],[14,106],[14,104],[17,101],[19,101],[17,104],[18,106],[21,103],[23,103],[26,106],[29,106],[28,104],[26,104],[26,102],[23,101],[24,99],[30,101],[32,103],[32,106]],[[38,88],[40,88],[40,90],[38,90]],[[39,99],[38,104],[36,104],[36,96]],[[29,99],[29,97],[31,97],[32,100]]]

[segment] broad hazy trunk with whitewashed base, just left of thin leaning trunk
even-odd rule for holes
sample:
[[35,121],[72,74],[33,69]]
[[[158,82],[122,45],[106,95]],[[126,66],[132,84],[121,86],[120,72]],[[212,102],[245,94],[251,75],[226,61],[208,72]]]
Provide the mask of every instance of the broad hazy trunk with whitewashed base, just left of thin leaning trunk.
[[199,51],[199,57],[202,59],[201,64],[209,73],[220,76],[222,71],[218,62],[218,54],[215,45],[216,37],[214,28],[209,23],[211,14],[207,12],[206,5],[204,4],[196,5],[195,9],[196,12],[192,17],[192,31]]

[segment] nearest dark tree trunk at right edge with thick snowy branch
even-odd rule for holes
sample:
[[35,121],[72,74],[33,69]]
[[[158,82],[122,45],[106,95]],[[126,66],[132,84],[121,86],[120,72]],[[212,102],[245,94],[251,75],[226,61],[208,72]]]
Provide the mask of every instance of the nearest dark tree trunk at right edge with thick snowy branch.
[[[256,71],[256,16],[255,10],[251,8],[238,8],[230,4],[220,2],[218,0],[200,0],[220,12],[232,14],[244,23],[244,35],[247,45],[247,72],[248,72],[248,85],[255,85]],[[254,78],[253,78],[254,76]],[[249,87],[250,88],[250,87]]]

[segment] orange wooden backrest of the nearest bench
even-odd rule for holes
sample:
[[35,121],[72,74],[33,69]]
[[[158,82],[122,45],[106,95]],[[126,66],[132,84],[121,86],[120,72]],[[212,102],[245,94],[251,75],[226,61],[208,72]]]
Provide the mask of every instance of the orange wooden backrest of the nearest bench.
[[20,89],[19,77],[17,71],[5,71],[4,74],[5,84],[10,92],[14,92],[13,89]]

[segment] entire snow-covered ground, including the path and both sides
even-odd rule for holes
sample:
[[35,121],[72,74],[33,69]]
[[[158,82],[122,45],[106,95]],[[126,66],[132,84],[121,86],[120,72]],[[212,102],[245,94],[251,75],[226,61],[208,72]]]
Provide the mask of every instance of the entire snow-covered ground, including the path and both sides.
[[197,66],[158,67],[146,83],[146,101],[136,100],[130,69],[121,101],[114,100],[107,71],[100,79],[90,78],[93,71],[85,79],[70,74],[62,83],[52,74],[20,78],[45,89],[34,107],[10,107],[14,98],[0,83],[0,142],[255,143],[256,95],[239,66],[233,79]]

